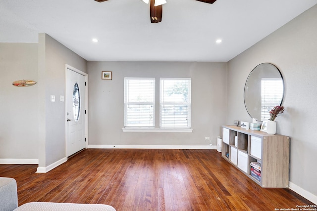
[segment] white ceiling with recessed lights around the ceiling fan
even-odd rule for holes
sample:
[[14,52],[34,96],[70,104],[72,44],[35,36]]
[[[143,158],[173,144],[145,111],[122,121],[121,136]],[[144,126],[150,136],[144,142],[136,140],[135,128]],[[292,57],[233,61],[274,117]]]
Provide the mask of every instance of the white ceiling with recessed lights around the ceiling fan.
[[166,1],[153,24],[142,0],[0,0],[0,42],[47,33],[89,61],[228,61],[317,3]]

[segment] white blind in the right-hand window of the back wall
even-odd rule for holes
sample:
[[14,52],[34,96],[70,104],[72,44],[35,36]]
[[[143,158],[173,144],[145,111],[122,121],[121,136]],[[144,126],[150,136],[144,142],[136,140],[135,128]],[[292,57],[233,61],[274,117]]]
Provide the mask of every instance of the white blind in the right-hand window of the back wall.
[[160,127],[191,128],[191,79],[160,79]]

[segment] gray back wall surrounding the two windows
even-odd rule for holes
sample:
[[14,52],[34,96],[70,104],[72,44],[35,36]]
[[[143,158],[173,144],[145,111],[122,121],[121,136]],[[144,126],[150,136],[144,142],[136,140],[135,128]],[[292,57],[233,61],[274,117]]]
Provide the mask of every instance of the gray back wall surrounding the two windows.
[[[226,119],[227,65],[221,62],[88,62],[89,145],[216,144]],[[113,80],[102,80],[112,71]],[[192,133],[122,132],[124,77],[156,78],[156,127],[159,127],[159,78],[192,78]]]

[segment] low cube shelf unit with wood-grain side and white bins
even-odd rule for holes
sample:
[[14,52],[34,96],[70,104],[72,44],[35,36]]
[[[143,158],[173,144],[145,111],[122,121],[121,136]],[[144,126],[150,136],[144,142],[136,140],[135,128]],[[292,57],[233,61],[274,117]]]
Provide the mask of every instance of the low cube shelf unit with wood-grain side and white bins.
[[[238,136],[237,147],[234,138]],[[290,138],[259,130],[222,127],[221,156],[263,188],[288,188]],[[261,163],[261,181],[251,176],[251,162]]]

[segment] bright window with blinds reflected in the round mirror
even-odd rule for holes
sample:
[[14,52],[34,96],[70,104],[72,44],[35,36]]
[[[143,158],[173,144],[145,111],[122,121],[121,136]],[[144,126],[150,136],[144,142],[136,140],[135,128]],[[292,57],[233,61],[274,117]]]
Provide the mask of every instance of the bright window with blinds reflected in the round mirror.
[[283,80],[278,78],[263,78],[261,84],[261,119],[268,120],[270,118],[269,111],[274,106],[281,104],[283,98]]

